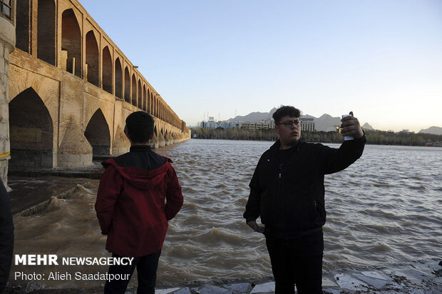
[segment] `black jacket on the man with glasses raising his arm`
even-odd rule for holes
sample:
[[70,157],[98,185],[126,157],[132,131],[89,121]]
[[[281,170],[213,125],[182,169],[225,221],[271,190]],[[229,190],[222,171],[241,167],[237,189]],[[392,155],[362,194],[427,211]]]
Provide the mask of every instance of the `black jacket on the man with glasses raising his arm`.
[[365,143],[365,136],[344,141],[340,148],[298,141],[280,166],[277,141],[259,158],[244,218],[248,222],[261,216],[266,232],[279,238],[322,228],[326,218],[324,175],[354,163]]

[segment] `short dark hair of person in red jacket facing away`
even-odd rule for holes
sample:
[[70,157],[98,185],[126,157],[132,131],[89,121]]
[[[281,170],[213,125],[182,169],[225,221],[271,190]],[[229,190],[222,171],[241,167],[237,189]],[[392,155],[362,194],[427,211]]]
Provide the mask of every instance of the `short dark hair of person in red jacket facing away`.
[[136,111],[126,118],[126,128],[130,141],[133,143],[147,143],[153,133],[154,121],[149,113]]

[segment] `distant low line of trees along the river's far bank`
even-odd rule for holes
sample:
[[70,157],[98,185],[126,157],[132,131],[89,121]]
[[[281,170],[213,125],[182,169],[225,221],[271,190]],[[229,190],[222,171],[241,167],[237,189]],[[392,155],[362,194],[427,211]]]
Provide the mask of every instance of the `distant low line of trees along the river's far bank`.
[[[242,128],[191,128],[192,138],[276,141],[274,129],[247,130]],[[426,146],[433,143],[442,146],[442,135],[431,133],[393,133],[389,131],[365,130],[367,143],[376,145]],[[338,132],[302,131],[302,141],[318,143],[341,143],[344,138]]]

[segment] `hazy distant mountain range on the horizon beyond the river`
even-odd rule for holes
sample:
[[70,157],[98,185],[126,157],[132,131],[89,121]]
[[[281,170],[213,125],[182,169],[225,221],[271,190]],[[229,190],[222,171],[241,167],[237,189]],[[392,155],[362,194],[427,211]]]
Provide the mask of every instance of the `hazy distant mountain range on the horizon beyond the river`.
[[[266,120],[272,118],[273,113],[277,111],[277,108],[272,108],[269,112],[252,112],[247,114],[247,116],[235,116],[235,118],[230,118],[227,122],[237,122],[237,121],[248,121],[251,123],[257,123],[258,121]],[[333,117],[327,113],[324,113],[319,118],[314,116],[309,116],[308,114],[302,116],[306,118],[313,118],[314,128],[317,131],[335,131],[336,126],[341,124],[341,118],[339,116]],[[374,130],[369,123],[364,123],[362,125],[366,130]],[[430,128],[422,129],[418,133],[432,133],[435,135],[442,135],[442,128],[438,126],[431,126]]]

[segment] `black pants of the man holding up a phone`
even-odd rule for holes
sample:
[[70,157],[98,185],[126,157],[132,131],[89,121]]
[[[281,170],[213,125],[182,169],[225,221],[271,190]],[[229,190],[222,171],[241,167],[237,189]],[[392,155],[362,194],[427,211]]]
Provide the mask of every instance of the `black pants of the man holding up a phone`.
[[322,293],[322,230],[299,238],[280,239],[266,233],[276,294]]

